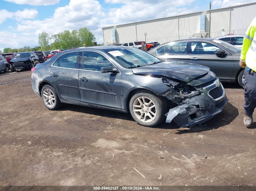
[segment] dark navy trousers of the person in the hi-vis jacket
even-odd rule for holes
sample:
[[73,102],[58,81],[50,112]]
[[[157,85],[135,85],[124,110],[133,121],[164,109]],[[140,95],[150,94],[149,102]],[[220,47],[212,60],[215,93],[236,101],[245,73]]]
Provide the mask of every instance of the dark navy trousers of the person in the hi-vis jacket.
[[244,70],[244,113],[251,116],[256,107],[256,73],[251,74],[251,70],[247,71],[248,67]]

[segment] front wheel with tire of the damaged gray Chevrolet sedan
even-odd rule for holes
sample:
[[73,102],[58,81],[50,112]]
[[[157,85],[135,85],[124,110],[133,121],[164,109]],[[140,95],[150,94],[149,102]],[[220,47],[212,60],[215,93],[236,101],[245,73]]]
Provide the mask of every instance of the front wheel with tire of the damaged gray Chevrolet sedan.
[[131,97],[129,109],[140,125],[153,127],[161,123],[167,113],[165,100],[147,91],[139,91]]

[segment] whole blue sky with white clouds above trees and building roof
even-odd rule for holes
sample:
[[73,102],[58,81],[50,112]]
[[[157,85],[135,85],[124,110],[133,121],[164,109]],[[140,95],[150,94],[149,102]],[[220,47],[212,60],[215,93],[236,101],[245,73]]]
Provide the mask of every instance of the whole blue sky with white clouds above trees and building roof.
[[[255,2],[213,0],[213,9]],[[37,46],[38,34],[87,27],[98,43],[101,27],[208,10],[204,0],[0,0],[0,50]],[[142,13],[142,11],[144,13]]]

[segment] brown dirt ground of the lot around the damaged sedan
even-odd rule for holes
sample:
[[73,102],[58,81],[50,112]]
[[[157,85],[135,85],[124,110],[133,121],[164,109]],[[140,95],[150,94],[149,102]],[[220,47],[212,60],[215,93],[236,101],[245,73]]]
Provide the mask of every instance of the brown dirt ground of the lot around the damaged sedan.
[[68,104],[50,111],[30,76],[0,74],[2,186],[256,185],[256,123],[243,124],[238,85],[224,84],[229,102],[205,126],[149,128],[126,113]]

